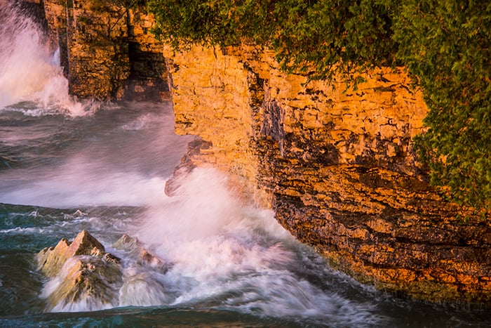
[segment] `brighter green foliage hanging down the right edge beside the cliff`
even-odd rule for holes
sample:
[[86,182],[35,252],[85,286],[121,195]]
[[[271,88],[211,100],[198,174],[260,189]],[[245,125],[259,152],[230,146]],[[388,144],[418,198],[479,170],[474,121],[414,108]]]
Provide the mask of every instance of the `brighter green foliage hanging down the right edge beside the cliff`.
[[430,112],[417,139],[431,182],[460,204],[491,207],[491,4],[405,1],[394,22],[398,58]]

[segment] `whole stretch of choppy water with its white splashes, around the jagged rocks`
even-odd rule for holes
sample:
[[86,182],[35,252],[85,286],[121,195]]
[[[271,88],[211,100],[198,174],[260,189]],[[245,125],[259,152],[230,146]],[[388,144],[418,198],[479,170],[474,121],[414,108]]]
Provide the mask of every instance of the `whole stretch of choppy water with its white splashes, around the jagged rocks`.
[[[395,299],[337,273],[213,169],[167,197],[192,140],[174,135],[170,103],[72,100],[36,26],[11,9],[0,17],[1,327],[490,325],[484,312]],[[123,258],[130,287],[109,308],[88,299],[48,311],[53,282],[34,254],[83,229]],[[123,233],[170,264],[142,267],[113,249]]]

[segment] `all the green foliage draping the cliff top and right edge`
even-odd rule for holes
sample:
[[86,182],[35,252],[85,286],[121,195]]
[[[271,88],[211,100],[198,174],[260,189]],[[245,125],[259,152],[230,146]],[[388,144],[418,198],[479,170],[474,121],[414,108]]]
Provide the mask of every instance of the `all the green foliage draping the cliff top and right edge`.
[[176,48],[273,48],[288,72],[356,84],[405,65],[424,91],[417,138],[450,199],[491,208],[491,4],[473,0],[148,0],[154,32]]

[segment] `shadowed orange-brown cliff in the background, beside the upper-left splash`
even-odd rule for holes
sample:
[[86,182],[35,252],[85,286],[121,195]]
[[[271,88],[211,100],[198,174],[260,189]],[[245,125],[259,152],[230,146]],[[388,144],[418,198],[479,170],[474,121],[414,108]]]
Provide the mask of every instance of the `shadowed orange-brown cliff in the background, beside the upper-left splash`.
[[162,44],[152,16],[111,1],[46,0],[53,51],[79,98],[165,100],[170,97]]

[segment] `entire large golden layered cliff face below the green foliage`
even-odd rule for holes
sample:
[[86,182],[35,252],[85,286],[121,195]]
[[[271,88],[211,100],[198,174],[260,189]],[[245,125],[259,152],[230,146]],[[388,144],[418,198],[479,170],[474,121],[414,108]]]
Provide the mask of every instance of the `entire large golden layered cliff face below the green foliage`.
[[418,299],[491,301],[490,224],[429,187],[412,148],[427,108],[402,70],[345,91],[284,74],[253,46],[164,53],[177,133],[211,144],[191,162],[245,181],[243,195],[358,280]]

